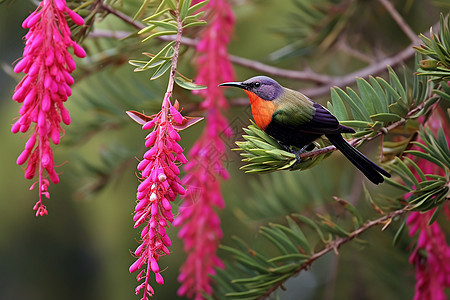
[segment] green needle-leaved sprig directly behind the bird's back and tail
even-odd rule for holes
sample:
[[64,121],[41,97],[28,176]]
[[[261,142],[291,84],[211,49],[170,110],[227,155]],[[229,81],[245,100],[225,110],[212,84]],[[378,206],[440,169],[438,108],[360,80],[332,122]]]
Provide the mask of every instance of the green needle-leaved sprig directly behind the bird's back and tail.
[[[417,60],[417,58],[416,58]],[[375,136],[382,128],[406,119],[415,119],[429,112],[437,97],[431,97],[432,83],[426,77],[415,77],[411,87],[402,83],[395,71],[388,67],[389,82],[381,77],[369,77],[369,81],[356,80],[359,94],[348,87],[331,90],[332,103],[328,109],[340,123],[358,130],[353,137]],[[349,106],[349,117],[346,104]]]

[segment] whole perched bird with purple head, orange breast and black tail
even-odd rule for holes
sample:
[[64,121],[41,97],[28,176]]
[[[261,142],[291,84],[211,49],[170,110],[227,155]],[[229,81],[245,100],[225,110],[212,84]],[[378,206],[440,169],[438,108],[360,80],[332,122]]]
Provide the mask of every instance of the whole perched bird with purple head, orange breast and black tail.
[[285,88],[266,76],[225,82],[219,86],[243,89],[250,99],[256,125],[278,140],[283,148],[290,151],[289,146],[299,148],[294,152],[298,157],[314,140],[325,135],[373,183],[382,183],[382,175],[391,177],[342,137],[341,133],[354,133],[352,128],[339,124],[326,108],[302,93]]

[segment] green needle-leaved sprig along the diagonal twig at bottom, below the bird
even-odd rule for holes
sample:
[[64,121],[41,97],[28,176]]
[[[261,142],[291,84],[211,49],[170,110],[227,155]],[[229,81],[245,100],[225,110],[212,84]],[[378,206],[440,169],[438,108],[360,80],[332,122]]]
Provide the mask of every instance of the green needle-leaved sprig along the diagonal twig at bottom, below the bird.
[[[340,225],[324,214],[308,218],[301,214],[286,217],[287,224],[269,223],[259,230],[265,238],[256,250],[239,238],[235,247],[221,246],[231,254],[235,263],[218,270],[215,280],[220,284],[215,299],[261,299],[275,293],[290,277],[306,270],[312,262],[327,252],[335,251],[343,243],[357,239],[359,234],[374,225],[391,222],[404,212],[394,212],[385,218],[366,221],[350,203],[337,199],[337,203],[352,222]],[[387,224],[389,224],[387,223]]]

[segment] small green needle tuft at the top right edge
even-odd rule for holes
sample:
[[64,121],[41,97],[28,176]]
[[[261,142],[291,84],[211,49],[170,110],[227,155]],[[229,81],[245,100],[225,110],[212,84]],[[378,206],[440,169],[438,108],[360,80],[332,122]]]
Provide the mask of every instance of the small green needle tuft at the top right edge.
[[414,47],[417,52],[428,58],[419,64],[418,74],[430,76],[431,79],[444,81],[450,79],[450,18],[441,14],[441,30],[439,35],[430,29],[430,37],[421,34],[424,42],[420,47]]

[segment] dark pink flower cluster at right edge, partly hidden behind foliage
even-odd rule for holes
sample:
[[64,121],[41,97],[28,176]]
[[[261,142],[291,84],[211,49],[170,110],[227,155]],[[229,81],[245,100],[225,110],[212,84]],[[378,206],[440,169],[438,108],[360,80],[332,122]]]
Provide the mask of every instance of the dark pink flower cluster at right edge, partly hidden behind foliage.
[[[436,111],[427,124],[434,132],[444,128],[449,138],[448,124],[445,124],[445,117],[442,118],[440,114],[441,111]],[[418,166],[425,174],[444,175],[442,169],[427,160],[421,159]],[[414,300],[445,300],[447,296],[444,290],[450,287],[450,246],[437,222],[428,225],[435,210],[412,212],[407,218],[409,235],[412,237],[418,233],[416,247],[409,258],[410,264],[416,268]],[[444,204],[444,212],[450,218],[448,204]]]

